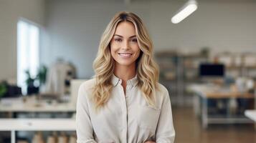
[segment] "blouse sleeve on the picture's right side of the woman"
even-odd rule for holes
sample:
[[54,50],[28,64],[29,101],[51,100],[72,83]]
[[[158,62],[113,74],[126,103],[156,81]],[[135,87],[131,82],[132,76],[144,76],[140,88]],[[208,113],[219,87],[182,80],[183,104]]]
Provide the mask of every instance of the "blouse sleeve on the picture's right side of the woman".
[[156,129],[156,143],[174,143],[175,131],[171,112],[171,101],[167,89],[163,94],[163,104]]

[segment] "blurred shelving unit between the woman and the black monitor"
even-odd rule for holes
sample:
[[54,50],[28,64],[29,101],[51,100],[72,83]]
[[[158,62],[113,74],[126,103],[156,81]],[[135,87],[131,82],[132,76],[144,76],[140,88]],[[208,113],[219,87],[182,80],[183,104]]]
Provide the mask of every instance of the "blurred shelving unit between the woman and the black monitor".
[[160,68],[159,82],[169,90],[172,104],[192,104],[192,96],[186,92],[186,86],[198,82],[199,64],[207,61],[208,57],[200,53],[182,54],[177,51],[160,51],[155,56]]

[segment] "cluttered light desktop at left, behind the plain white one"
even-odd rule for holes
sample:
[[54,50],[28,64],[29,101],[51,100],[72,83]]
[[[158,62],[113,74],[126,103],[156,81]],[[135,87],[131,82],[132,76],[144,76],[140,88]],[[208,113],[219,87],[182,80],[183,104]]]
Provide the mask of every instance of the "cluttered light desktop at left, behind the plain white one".
[[29,97],[26,102],[22,98],[1,99],[0,112],[75,112],[75,104],[49,103]]

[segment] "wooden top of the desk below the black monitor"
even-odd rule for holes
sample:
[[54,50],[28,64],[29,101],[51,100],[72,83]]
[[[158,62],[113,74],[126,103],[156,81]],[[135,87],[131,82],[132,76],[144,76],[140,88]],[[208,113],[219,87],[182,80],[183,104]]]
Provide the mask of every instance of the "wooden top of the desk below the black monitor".
[[189,90],[196,92],[202,97],[219,99],[219,98],[255,98],[252,93],[234,92],[227,87],[219,87],[214,84],[191,84]]

